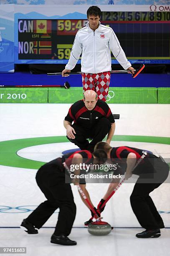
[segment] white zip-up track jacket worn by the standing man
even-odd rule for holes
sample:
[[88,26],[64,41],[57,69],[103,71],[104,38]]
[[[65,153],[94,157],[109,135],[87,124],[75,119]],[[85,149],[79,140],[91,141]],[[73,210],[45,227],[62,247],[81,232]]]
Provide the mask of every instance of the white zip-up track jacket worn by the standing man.
[[110,71],[112,69],[110,51],[124,69],[131,66],[113,29],[99,22],[99,27],[93,31],[88,22],[86,27],[76,33],[70,59],[65,68],[74,69],[82,53],[81,72],[97,74]]

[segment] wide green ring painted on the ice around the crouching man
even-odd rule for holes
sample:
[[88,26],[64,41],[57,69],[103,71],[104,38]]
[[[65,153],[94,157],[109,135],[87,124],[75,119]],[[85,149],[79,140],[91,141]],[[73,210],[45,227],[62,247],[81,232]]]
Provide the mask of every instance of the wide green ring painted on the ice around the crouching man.
[[[131,135],[114,135],[112,141],[131,141],[145,143],[159,143],[170,145],[169,137],[155,136],[131,136]],[[25,168],[39,169],[45,162],[35,161],[23,158],[17,155],[17,152],[23,148],[38,146],[50,143],[68,142],[66,136],[51,136],[38,138],[24,138],[10,141],[0,141],[0,165]]]

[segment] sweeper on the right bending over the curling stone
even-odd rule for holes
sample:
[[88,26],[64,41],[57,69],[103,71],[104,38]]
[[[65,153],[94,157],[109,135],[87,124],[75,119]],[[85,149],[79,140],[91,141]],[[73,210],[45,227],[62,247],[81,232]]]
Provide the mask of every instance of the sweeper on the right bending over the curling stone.
[[[150,192],[159,187],[168,177],[169,166],[165,163],[162,157],[157,157],[154,154],[146,153],[142,149],[132,148],[127,146],[111,147],[105,142],[99,142],[95,146],[96,149],[103,149],[107,153],[108,159],[120,166],[121,172],[125,172],[125,179],[129,179],[132,174],[139,175],[132,195],[130,196],[130,203],[132,210],[137,217],[142,228],[145,231],[137,233],[138,238],[156,238],[160,236],[160,228],[164,228],[164,223],[160,214],[150,197]],[[139,162],[134,168],[138,159],[146,154],[145,159]],[[126,161],[124,161],[126,160]],[[120,172],[120,169],[118,172]],[[102,212],[102,204],[104,200],[110,195],[112,190],[118,185],[111,183],[109,185],[106,195],[98,204],[98,210]]]

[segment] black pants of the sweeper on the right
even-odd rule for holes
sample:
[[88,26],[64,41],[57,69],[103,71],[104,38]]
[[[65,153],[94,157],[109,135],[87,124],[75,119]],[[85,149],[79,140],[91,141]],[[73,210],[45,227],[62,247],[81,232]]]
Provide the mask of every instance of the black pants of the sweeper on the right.
[[147,230],[164,227],[163,220],[157,212],[149,194],[167,179],[169,166],[162,163],[159,159],[156,169],[157,173],[154,174],[154,182],[156,181],[157,183],[143,183],[143,177],[141,175],[134,185],[132,195],[130,196],[132,210],[140,225]]

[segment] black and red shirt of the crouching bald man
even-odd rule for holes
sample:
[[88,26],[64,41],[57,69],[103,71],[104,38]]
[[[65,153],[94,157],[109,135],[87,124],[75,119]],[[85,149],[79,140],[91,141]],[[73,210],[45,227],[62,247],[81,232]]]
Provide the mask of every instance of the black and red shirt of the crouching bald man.
[[73,105],[71,105],[66,121],[76,123],[84,128],[91,128],[94,126],[100,118],[108,118],[110,123],[114,123],[114,118],[112,112],[106,102],[102,100],[97,100],[96,106],[93,110],[88,110],[84,104],[83,100],[78,100]]

